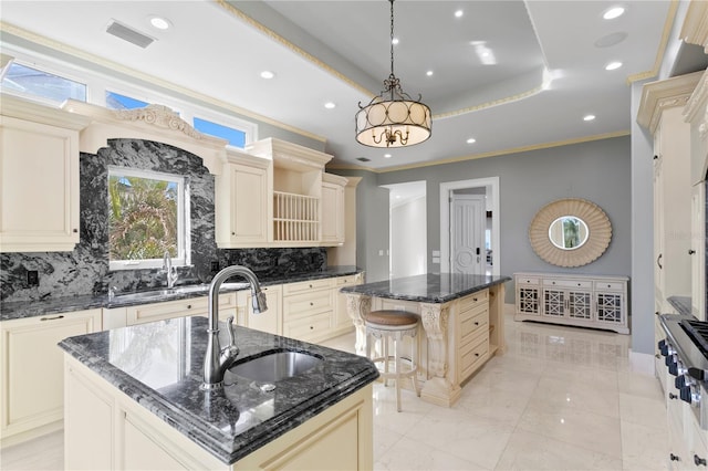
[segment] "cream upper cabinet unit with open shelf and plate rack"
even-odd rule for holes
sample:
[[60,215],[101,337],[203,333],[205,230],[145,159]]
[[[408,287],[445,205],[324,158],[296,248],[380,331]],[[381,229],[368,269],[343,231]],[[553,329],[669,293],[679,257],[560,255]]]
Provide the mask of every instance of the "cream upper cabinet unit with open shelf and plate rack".
[[219,247],[343,243],[347,179],[324,172],[332,156],[274,138],[246,151],[229,153],[217,176]]

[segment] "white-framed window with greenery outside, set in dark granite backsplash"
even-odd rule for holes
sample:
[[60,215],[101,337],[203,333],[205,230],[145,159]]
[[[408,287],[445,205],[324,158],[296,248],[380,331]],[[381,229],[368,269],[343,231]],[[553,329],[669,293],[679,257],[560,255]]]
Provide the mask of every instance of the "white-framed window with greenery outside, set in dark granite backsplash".
[[188,184],[184,177],[108,167],[111,270],[189,263]]

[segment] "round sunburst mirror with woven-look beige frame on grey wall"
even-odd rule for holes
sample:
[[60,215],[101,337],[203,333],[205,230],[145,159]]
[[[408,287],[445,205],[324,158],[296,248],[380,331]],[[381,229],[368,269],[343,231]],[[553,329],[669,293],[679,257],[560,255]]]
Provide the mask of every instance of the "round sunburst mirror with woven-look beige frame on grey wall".
[[537,255],[556,266],[582,266],[602,255],[612,239],[612,224],[594,202],[568,198],[535,213],[529,240]]

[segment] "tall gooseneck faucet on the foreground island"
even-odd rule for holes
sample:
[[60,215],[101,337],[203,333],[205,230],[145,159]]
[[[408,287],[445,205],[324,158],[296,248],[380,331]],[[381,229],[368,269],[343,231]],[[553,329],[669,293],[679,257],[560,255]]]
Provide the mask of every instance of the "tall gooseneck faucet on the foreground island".
[[232,265],[214,276],[209,285],[209,327],[207,328],[207,353],[204,358],[204,383],[201,384],[201,388],[206,390],[223,387],[223,374],[239,354],[233,334],[233,316],[227,318],[229,345],[223,348],[219,345],[219,287],[221,283],[233,275],[243,276],[251,285],[253,312],[260,313],[268,310],[266,294],[261,291],[258,278],[251,270],[242,265]]

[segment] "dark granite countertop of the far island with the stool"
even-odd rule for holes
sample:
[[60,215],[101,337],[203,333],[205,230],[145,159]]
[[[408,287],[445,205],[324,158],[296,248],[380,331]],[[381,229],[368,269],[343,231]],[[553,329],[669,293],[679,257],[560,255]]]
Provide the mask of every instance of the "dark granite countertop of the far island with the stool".
[[343,293],[361,293],[389,300],[423,303],[447,303],[458,297],[510,281],[509,276],[468,275],[455,273],[428,273],[416,276],[394,278],[374,283],[344,286]]

